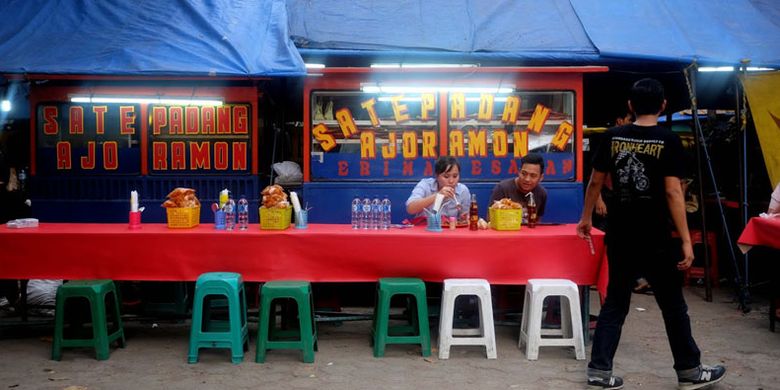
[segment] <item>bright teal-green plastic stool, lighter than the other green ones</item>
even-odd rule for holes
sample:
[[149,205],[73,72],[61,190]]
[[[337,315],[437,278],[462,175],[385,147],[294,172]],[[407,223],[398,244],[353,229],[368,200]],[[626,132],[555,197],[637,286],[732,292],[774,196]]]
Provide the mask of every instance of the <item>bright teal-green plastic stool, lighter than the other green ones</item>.
[[[206,301],[209,296],[219,296],[221,299],[217,301],[227,302],[227,323],[211,319],[213,306],[210,301]],[[241,275],[232,272],[209,272],[200,275],[195,283],[192,306],[187,362],[198,362],[200,348],[230,348],[233,364],[241,363],[244,360],[244,351],[249,349],[246,293]]]

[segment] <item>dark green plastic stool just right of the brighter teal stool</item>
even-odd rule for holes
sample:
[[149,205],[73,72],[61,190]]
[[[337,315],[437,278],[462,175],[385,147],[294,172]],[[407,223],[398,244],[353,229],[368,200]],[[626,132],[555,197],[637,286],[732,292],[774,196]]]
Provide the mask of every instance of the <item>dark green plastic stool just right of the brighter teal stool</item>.
[[[298,306],[298,329],[284,331],[275,328],[275,299],[293,299]],[[304,363],[314,363],[317,350],[317,328],[314,322],[314,303],[311,283],[301,281],[273,281],[260,289],[260,324],[257,328],[255,362],[265,362],[269,349],[300,349]],[[273,314],[273,321],[271,315]]]

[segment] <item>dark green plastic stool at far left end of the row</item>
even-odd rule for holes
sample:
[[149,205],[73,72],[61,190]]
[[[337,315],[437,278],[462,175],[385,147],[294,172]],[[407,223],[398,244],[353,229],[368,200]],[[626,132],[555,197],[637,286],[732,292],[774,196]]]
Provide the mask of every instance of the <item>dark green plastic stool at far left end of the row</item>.
[[[106,303],[107,298],[112,299]],[[92,318],[92,337],[66,339],[65,302],[71,298],[86,298]],[[113,306],[113,307],[107,307]],[[113,330],[109,330],[106,311],[113,310]],[[93,347],[97,360],[107,360],[109,345],[119,341],[119,347],[125,347],[125,331],[122,327],[122,317],[119,312],[119,299],[116,287],[111,280],[73,280],[57,289],[57,307],[54,317],[54,340],[51,347],[52,360],[62,358],[62,348]]]

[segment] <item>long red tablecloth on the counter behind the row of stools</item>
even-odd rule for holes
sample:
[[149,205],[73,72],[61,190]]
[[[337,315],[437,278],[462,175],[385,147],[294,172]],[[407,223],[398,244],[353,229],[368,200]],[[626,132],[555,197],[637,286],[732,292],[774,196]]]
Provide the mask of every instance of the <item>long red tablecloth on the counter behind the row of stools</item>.
[[42,223],[33,229],[0,228],[0,279],[191,281],[203,272],[232,271],[247,281],[414,276],[428,281],[479,277],[495,284],[566,278],[594,285],[604,235],[594,231],[593,238],[595,255],[574,225],[432,233],[422,227],[355,231],[326,224],[283,231],[252,225],[226,232],[210,224],[194,229],[144,224],[129,230],[126,224]]

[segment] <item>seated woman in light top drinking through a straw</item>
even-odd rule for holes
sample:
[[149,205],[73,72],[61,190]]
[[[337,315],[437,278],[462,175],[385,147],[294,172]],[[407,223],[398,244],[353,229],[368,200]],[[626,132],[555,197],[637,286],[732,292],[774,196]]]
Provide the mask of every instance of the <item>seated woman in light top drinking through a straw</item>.
[[444,195],[441,209],[442,216],[463,219],[468,214],[471,193],[468,187],[459,183],[460,164],[454,157],[439,157],[434,165],[435,176],[420,180],[414,186],[412,194],[406,200],[406,211],[409,214],[423,214],[423,209],[429,211],[436,201],[436,194]]

